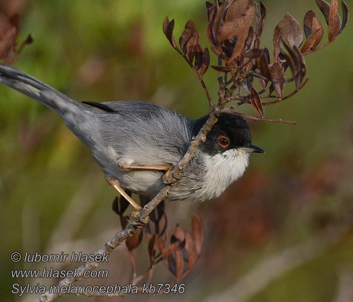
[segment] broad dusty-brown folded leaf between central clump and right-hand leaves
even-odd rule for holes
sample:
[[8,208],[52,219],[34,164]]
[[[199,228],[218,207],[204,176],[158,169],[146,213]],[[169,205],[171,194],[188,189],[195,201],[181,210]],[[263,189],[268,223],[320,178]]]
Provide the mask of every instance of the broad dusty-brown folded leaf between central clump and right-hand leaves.
[[274,46],[274,58],[278,59],[279,53],[283,48],[282,40],[286,41],[290,47],[300,45],[303,42],[303,30],[298,21],[290,16],[285,14],[283,20],[281,20],[276,28],[274,29],[273,34],[273,46]]

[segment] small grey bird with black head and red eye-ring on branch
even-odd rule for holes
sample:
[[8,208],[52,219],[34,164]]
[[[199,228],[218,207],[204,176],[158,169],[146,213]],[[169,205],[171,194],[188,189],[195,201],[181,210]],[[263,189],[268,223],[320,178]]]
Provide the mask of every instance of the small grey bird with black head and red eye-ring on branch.
[[[138,101],[77,102],[30,75],[0,63],[0,83],[54,110],[91,150],[107,182],[136,209],[141,207],[123,188],[153,197],[164,186],[161,177],[185,155],[208,115],[191,120],[174,111]],[[244,118],[222,114],[196,150],[183,177],[167,200],[206,201],[218,197],[240,178],[251,153]]]

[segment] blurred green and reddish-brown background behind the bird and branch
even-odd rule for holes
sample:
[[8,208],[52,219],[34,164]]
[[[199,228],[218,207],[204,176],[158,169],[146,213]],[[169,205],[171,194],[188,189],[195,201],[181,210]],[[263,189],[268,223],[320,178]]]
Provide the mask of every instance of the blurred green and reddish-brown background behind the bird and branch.
[[[166,15],[175,19],[175,37],[194,18],[202,45],[209,46],[203,0],[2,0],[0,7],[10,2],[20,14],[18,41],[29,33],[34,38],[15,67],[79,101],[141,100],[189,118],[207,113],[195,74],[162,33]],[[314,0],[263,4],[267,19],[262,46],[270,52],[273,29],[287,12],[303,24],[305,13],[314,9],[327,41],[327,26]],[[347,4],[353,8],[352,0]],[[266,107],[266,117],[296,120],[298,125],[250,122],[254,144],[266,155],[254,155],[242,179],[217,200],[166,203],[169,232],[175,223],[190,230],[193,213],[202,218],[203,255],[183,280],[183,295],[144,295],[144,300],[353,301],[352,35],[350,20],[334,43],[305,57],[310,77],[306,87]],[[214,55],[212,60],[215,65]],[[215,101],[217,72],[210,68],[204,79]],[[241,111],[256,114],[250,105]],[[15,296],[12,284],[58,280],[12,279],[11,269],[42,267],[14,264],[13,251],[92,253],[120,223],[111,210],[114,190],[91,161],[90,150],[59,116],[4,86],[0,112],[0,300],[30,301],[36,295]],[[143,272],[146,243],[134,253]],[[85,282],[130,282],[124,245],[109,256],[108,266],[99,268],[107,267],[107,279]],[[172,280],[159,264],[153,282]],[[58,300],[87,299],[69,295]]]

